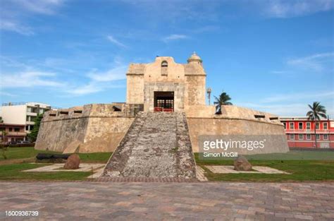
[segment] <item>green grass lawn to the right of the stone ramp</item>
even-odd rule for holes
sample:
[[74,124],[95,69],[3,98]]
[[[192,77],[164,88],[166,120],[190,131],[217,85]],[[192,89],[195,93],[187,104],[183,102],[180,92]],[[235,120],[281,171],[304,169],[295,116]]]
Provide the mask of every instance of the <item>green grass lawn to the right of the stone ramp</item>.
[[[266,166],[280,169],[291,174],[214,174],[206,169],[204,165],[233,165],[233,160],[201,160],[195,153],[197,165],[204,168],[206,177],[210,181],[334,181],[333,160],[287,160],[287,159],[312,159],[319,155],[333,155],[334,152],[314,151],[290,151],[279,154],[281,159],[277,160],[277,154],[268,154],[266,157],[247,156],[253,166]],[[276,156],[275,156],[276,155]],[[296,157],[298,156],[298,157]],[[276,160],[256,160],[256,159]],[[333,157],[331,158],[333,159]]]

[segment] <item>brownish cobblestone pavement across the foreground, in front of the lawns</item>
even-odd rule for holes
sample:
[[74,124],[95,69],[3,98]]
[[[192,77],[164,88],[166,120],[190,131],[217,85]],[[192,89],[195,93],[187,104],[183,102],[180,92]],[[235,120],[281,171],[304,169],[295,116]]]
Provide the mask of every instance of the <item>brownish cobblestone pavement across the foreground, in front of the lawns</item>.
[[333,183],[0,182],[0,201],[0,220],[334,220]]

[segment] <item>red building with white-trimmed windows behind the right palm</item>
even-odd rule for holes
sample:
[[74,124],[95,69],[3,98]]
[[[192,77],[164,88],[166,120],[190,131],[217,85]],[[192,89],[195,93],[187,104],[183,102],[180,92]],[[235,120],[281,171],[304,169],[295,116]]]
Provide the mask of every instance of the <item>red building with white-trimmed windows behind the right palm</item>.
[[[289,148],[334,148],[334,120],[309,120],[307,117],[280,117]],[[314,136],[316,126],[316,141]]]

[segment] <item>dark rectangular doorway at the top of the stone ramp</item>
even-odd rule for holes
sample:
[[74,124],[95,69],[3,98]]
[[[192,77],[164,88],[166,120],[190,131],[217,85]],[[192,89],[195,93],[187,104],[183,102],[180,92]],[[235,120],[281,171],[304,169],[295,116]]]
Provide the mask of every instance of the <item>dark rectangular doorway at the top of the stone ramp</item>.
[[154,91],[154,112],[173,112],[174,92]]

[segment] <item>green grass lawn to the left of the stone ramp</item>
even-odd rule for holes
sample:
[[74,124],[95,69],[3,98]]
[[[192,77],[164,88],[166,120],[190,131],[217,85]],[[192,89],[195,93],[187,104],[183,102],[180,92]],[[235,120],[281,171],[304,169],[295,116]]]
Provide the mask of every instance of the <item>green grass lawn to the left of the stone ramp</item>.
[[[22,172],[49,164],[31,164],[35,162],[37,153],[56,153],[45,150],[29,148],[8,148],[5,160],[0,155],[0,180],[85,180],[91,172]],[[81,162],[106,163],[111,153],[79,153]]]

